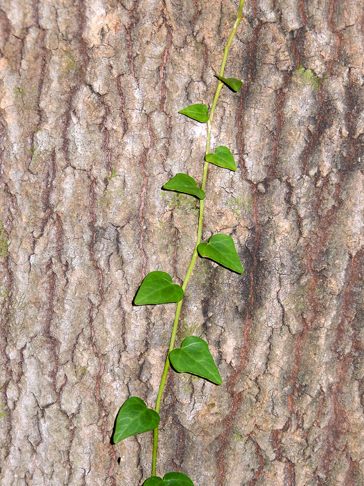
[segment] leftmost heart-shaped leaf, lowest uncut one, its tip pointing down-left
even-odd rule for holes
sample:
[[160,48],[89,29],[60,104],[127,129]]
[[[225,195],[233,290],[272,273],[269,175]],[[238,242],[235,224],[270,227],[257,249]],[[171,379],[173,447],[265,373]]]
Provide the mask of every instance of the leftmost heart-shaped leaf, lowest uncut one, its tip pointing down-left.
[[155,410],[148,408],[138,397],[128,398],[117,414],[112,440],[117,444],[130,435],[153,430],[158,424],[159,415]]

